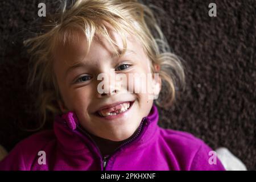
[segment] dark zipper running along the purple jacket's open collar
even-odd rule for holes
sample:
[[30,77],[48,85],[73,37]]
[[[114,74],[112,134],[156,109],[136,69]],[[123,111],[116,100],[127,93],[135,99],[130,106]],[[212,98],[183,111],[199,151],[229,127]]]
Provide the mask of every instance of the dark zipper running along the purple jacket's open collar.
[[101,155],[101,159],[102,159],[102,168],[103,168],[103,171],[105,171],[106,165],[108,164],[108,159],[109,159],[111,156],[113,156],[113,155],[115,154],[115,152],[117,152],[118,150],[120,150],[120,148],[122,148],[122,147],[126,146],[127,144],[133,142],[133,140],[135,140],[135,139],[139,136],[139,134],[141,134],[142,126],[143,126],[145,120],[146,120],[146,118],[144,117],[144,118],[142,119],[141,124],[139,125],[139,128],[138,128],[138,131],[137,131],[136,135],[135,135],[133,138],[131,138],[130,140],[127,140],[125,143],[123,143],[123,144],[121,144],[119,147],[117,147],[117,148],[114,150],[113,154],[111,154],[111,155],[106,155],[106,156],[103,156],[103,155],[101,154],[100,148],[98,148],[96,142],[94,142],[94,140],[92,139],[92,137],[90,137],[90,135],[89,135],[85,130],[81,129],[81,127],[78,126],[78,125],[77,125],[77,129],[79,129],[80,131],[82,131],[82,133],[86,134],[86,135],[89,137],[89,139],[92,140],[92,142],[94,143],[94,145],[96,146],[98,152],[99,152],[100,155]]

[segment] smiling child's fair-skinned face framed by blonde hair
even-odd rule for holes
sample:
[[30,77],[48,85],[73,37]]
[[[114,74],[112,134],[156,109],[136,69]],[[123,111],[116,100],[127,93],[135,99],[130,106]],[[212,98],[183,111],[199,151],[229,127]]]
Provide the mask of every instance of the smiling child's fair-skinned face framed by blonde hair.
[[[114,31],[110,31],[110,34],[118,43],[119,48],[122,48],[121,36]],[[110,93],[100,94],[97,87],[101,80],[97,80],[97,76],[100,73],[106,73],[108,76],[110,73],[114,73],[114,75],[124,73],[129,82],[129,73],[144,73],[146,75],[151,73],[150,60],[134,36],[128,35],[127,49],[130,52],[127,51],[119,59],[114,56],[114,49],[109,42],[103,38],[101,42],[94,39],[89,54],[86,55],[85,36],[81,32],[78,32],[77,35],[75,34],[73,42],[65,47],[59,47],[55,53],[53,68],[64,100],[64,103],[59,102],[60,108],[63,112],[74,111],[81,126],[89,133],[113,141],[125,140],[133,135],[142,118],[148,115],[153,100],[148,99],[147,93],[135,93],[134,90],[131,92],[127,86],[120,87],[110,81],[106,85]],[[79,60],[85,65],[68,71],[70,65]],[[115,69],[114,72],[113,69]],[[135,89],[145,83],[137,80],[133,84]],[[158,84],[155,82],[152,84],[159,89]],[[130,102],[130,104],[133,102],[133,104],[121,114],[108,117],[98,115],[100,107],[117,102]],[[104,114],[108,115],[108,112]]]

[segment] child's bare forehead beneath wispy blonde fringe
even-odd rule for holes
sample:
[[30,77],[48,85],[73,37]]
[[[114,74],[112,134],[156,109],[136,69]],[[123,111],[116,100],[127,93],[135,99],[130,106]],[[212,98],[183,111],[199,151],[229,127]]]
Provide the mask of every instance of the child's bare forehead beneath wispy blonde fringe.
[[[122,50],[123,40],[122,36],[118,34],[113,28],[108,27],[108,33],[110,38],[116,43],[117,50]],[[127,54],[135,52],[136,55],[143,55],[143,47],[141,42],[131,34],[126,34],[127,37]],[[63,63],[75,64],[81,61],[85,57],[88,59],[103,59],[104,57],[114,57],[116,56],[113,46],[110,44],[109,40],[104,38],[104,36],[99,36],[96,34],[94,36],[92,43],[90,44],[90,49],[88,55],[86,51],[88,49],[88,42],[84,32],[76,30],[72,32],[72,36],[67,39],[65,44],[59,44],[54,51],[55,61],[61,60]]]

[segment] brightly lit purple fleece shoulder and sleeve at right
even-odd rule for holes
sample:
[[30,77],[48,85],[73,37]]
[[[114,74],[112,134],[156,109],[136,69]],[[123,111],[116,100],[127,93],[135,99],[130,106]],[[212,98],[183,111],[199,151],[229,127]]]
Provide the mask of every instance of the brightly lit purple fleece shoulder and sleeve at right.
[[[160,129],[160,140],[168,146],[183,170],[225,170],[212,148],[185,131]],[[214,156],[213,156],[214,157]]]

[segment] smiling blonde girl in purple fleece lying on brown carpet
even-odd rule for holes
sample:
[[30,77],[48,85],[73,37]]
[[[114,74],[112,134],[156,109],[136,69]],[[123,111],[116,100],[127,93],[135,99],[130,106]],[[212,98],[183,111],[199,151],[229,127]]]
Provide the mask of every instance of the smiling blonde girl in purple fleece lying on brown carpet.
[[53,130],[18,143],[0,169],[224,170],[202,140],[157,125],[155,104],[173,103],[184,71],[148,7],[79,0],[45,27],[25,44],[30,85],[43,123],[55,114]]

